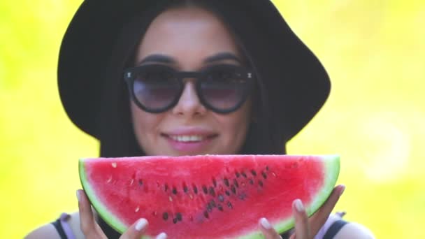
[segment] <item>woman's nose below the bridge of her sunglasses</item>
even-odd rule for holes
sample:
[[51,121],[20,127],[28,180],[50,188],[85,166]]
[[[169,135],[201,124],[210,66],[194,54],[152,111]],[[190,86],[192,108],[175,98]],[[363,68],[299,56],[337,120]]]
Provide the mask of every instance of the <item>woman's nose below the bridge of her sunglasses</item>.
[[196,85],[193,80],[187,80],[180,99],[173,108],[173,113],[176,115],[195,116],[206,113],[206,108],[199,100],[196,94]]

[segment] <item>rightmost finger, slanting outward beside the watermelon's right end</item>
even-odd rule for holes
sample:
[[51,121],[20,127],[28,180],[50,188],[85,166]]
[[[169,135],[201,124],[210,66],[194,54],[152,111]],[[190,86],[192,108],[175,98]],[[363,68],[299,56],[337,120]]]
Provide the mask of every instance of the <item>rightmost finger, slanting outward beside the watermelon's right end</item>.
[[344,190],[344,185],[338,185],[335,187],[322,207],[320,207],[319,210],[310,217],[310,229],[312,231],[312,235],[315,235],[326,222]]

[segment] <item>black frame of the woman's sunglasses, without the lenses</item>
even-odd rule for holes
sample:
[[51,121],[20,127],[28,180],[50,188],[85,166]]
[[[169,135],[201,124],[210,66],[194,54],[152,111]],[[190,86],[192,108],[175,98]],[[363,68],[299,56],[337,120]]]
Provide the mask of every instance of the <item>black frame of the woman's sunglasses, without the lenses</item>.
[[[178,93],[175,94],[174,99],[169,103],[167,106],[164,106],[162,108],[148,108],[146,106],[143,106],[143,104],[138,101],[136,97],[136,93],[134,92],[134,82],[136,81],[136,75],[139,73],[143,73],[147,69],[152,69],[152,67],[160,68],[161,70],[164,70],[168,73],[173,74],[173,78],[178,81]],[[232,68],[232,70],[238,74],[240,74],[240,79],[246,80],[247,84],[245,87],[245,90],[240,97],[240,101],[236,103],[235,106],[227,109],[219,109],[212,106],[210,103],[208,103],[208,100],[206,100],[205,96],[203,96],[201,88],[202,82],[207,80],[208,73],[213,71],[216,68]],[[124,80],[127,82],[127,86],[129,89],[129,94],[131,95],[131,99],[136,103],[136,105],[141,108],[142,110],[145,110],[148,113],[163,113],[166,110],[169,110],[177,105],[178,101],[180,100],[180,97],[182,96],[183,90],[185,89],[185,82],[184,80],[187,78],[195,78],[196,82],[196,96],[198,96],[199,101],[201,101],[202,105],[208,108],[209,110],[214,111],[215,113],[220,114],[228,114],[232,113],[233,111],[238,110],[240,106],[245,103],[248,96],[250,96],[252,92],[252,88],[254,86],[254,74],[252,71],[248,71],[243,66],[233,65],[233,64],[217,64],[213,66],[208,66],[207,68],[203,68],[201,71],[176,71],[174,68],[170,66],[166,66],[164,64],[146,64],[142,66],[136,66],[132,68],[127,68],[124,70]]]

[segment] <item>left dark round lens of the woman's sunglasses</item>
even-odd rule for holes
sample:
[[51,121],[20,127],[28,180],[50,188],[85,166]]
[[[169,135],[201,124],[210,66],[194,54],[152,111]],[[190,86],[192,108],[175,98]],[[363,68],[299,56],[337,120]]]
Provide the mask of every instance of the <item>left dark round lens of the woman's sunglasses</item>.
[[173,72],[162,67],[146,67],[134,80],[136,100],[151,110],[167,108],[178,97],[180,85]]

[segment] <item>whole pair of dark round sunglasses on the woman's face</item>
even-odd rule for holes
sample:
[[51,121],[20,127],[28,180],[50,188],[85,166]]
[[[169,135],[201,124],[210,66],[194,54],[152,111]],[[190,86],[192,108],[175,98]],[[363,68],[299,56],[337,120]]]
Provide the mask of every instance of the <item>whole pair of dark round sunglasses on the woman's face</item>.
[[196,79],[196,94],[203,106],[222,114],[238,110],[254,85],[252,72],[232,64],[209,66],[202,71],[176,71],[163,64],[147,64],[124,71],[131,99],[149,113],[173,108],[187,78]]

